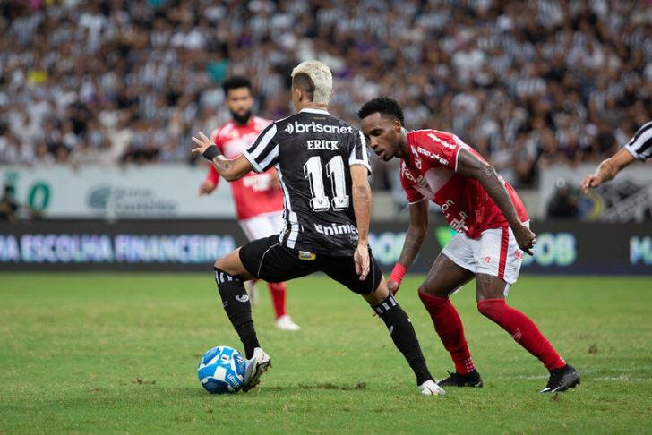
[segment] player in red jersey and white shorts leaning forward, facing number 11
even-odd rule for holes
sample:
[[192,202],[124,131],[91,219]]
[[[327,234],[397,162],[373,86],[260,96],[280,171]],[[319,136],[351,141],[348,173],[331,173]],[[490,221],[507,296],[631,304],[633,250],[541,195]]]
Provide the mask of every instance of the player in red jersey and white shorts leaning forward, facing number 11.
[[436,130],[407,132],[403,112],[391,98],[375,98],[358,112],[362,131],[378,158],[400,158],[400,182],[407,194],[410,226],[388,280],[396,293],[415,260],[428,227],[428,200],[442,209],[455,235],[419,286],[418,294],[434,328],[455,363],[442,387],[482,387],[468,350],[464,328],[449,296],[476,278],[477,309],[528,350],[550,371],[542,392],[564,391],[579,384],[579,372],[564,362],[524,313],[505,303],[519,276],[523,251],[531,255],[536,235],[528,212],[509,183],[475,149],[457,136]]

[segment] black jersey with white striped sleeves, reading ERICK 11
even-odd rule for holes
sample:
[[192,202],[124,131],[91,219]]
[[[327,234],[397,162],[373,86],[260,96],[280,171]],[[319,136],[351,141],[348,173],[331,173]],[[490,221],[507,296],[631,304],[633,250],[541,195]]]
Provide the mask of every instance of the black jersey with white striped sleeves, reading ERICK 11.
[[276,166],[284,196],[279,243],[333,256],[357,246],[350,166],[371,173],[362,132],[324,110],[270,124],[243,153],[256,172]]

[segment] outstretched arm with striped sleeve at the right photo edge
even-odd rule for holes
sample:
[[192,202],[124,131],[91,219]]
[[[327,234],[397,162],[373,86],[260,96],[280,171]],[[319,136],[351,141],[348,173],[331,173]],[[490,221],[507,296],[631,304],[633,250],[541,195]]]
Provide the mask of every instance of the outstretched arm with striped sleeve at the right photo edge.
[[579,187],[586,193],[589,187],[597,187],[613,180],[616,174],[630,166],[634,160],[645,161],[650,156],[652,156],[652,121],[643,124],[622,149],[600,163],[596,172],[585,176],[582,183],[579,183]]

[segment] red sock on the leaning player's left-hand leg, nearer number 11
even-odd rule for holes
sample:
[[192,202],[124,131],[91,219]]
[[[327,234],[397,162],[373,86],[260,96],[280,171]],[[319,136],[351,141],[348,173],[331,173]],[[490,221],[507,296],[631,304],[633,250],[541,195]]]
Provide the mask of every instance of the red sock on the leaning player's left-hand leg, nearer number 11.
[[449,351],[450,357],[455,362],[455,371],[459,374],[467,374],[469,371],[476,370],[471,353],[468,352],[467,339],[464,338],[462,320],[459,319],[458,311],[455,310],[453,304],[448,298],[436,297],[423,292],[419,292],[419,298],[433,319],[434,330],[439,334],[443,346]]

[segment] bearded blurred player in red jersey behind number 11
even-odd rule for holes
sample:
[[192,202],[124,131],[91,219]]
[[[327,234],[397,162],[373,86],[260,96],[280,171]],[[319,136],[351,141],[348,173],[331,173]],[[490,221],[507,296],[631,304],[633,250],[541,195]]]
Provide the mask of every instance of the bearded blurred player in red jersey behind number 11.
[[[252,83],[246,77],[233,76],[222,83],[228,110],[232,119],[211,135],[226,158],[237,158],[246,150],[258,133],[271,121],[252,115]],[[199,194],[213,192],[219,183],[219,175],[210,165]],[[236,202],[238,222],[249,240],[279,234],[283,229],[283,193],[280,191],[276,170],[271,168],[262,174],[249,173],[231,183]],[[285,283],[270,283],[271,301],[276,314],[275,326],[281,330],[298,330],[299,326],[286,312]],[[249,294],[256,295],[254,283],[250,282]]]

